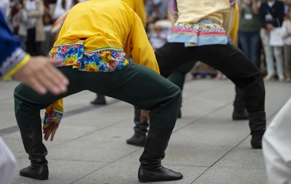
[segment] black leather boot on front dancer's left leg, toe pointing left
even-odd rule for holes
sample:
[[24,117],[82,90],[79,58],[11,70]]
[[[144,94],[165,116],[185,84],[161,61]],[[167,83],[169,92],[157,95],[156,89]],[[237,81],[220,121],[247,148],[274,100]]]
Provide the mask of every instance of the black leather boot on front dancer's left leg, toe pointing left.
[[48,161],[46,160],[48,150],[42,142],[41,124],[20,129],[20,133],[24,149],[31,160],[30,166],[19,171],[20,175],[36,180],[47,180],[49,178]]

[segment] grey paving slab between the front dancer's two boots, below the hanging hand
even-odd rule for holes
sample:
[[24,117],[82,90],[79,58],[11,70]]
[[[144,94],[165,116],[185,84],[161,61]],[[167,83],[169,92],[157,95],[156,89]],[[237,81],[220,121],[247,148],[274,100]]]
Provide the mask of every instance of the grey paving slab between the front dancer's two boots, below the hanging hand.
[[126,126],[108,127],[106,131],[96,131],[55,146],[49,152],[57,159],[111,162],[139,149],[126,144],[131,134],[132,130]]

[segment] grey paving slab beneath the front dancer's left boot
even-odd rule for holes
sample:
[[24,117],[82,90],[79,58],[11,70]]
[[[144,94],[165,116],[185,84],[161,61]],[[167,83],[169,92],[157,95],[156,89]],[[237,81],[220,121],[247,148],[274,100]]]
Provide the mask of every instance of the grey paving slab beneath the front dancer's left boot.
[[106,162],[49,159],[49,179],[39,181],[20,176],[19,170],[29,166],[30,163],[28,159],[18,159],[17,161],[16,174],[12,184],[71,184],[108,164]]

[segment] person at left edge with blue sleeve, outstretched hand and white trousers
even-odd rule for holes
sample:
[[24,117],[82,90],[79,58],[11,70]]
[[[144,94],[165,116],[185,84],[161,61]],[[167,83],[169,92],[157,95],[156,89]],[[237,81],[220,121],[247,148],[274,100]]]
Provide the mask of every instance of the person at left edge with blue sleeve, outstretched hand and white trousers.
[[[66,92],[68,81],[52,66],[61,61],[26,54],[21,48],[21,40],[13,36],[1,11],[0,32],[0,71],[4,80],[14,77],[41,94],[47,90],[54,94]],[[11,184],[16,159],[1,137],[0,155],[0,184]]]

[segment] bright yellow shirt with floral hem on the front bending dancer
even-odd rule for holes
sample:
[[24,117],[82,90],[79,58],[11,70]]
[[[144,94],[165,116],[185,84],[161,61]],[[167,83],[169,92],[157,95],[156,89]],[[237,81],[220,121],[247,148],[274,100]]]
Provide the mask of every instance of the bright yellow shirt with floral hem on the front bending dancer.
[[[119,61],[126,63],[124,52],[126,55],[132,55],[134,62],[160,73],[154,51],[148,42],[141,20],[143,17],[145,24],[146,13],[143,12],[145,11],[143,0],[141,0],[142,2],[138,2],[138,0],[123,1],[129,5],[119,0],[90,0],[77,4],[65,19],[59,37],[50,52],[51,58],[63,57],[65,59],[63,66],[72,65],[78,69],[81,68],[81,61],[77,63],[78,58],[74,58],[72,54],[72,50],[78,46],[79,48],[83,47],[83,49],[77,49],[83,57],[84,55],[90,57],[90,54],[92,55],[97,51],[100,58],[107,62],[116,57],[110,53],[110,50],[114,49],[114,51],[119,51],[119,53],[115,52],[114,54],[119,54],[119,58],[123,57]],[[77,55],[80,53],[75,52]],[[117,60],[118,57],[116,57]],[[86,66],[86,63],[83,65]],[[96,65],[97,63],[91,64],[87,68],[84,67],[84,71],[101,72],[97,71]],[[61,120],[63,109],[63,99],[47,107],[43,128],[47,128],[49,123],[57,119]]]

